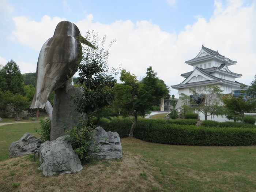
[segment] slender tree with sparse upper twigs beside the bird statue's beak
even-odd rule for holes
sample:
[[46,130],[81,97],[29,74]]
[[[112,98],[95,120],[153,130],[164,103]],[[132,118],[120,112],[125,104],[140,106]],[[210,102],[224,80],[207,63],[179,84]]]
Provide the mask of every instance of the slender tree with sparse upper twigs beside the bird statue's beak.
[[[106,37],[103,37],[101,45],[98,45],[98,34],[88,31],[85,37],[97,49],[83,46],[81,63],[78,66],[79,83],[84,87],[80,94],[74,95],[72,99],[79,113],[86,114],[86,122],[89,113],[96,109],[111,105],[114,100],[113,87],[116,83],[115,75],[117,71],[113,69],[113,73],[109,72],[108,57],[109,49],[104,50]],[[109,48],[113,44],[112,41]]]

